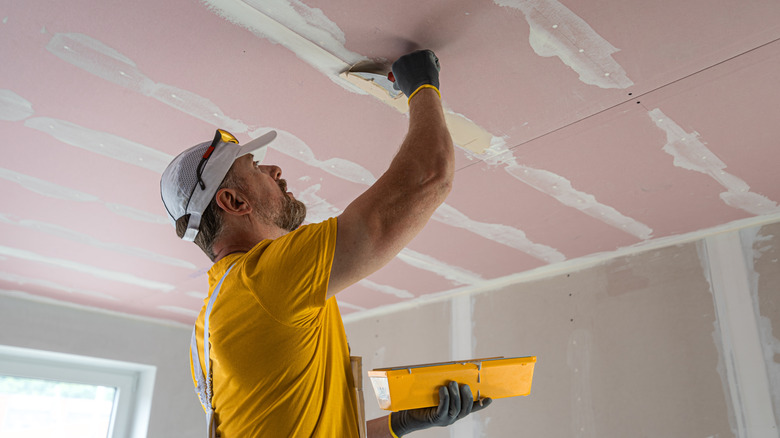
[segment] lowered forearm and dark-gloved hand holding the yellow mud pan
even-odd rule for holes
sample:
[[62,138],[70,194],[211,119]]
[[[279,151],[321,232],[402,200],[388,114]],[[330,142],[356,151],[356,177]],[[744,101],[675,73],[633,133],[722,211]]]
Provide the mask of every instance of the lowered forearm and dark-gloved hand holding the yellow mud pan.
[[450,382],[439,387],[439,406],[432,408],[409,409],[390,414],[390,429],[398,438],[409,432],[428,429],[433,426],[449,426],[466,415],[485,409],[493,400],[490,398],[474,401],[469,385]]

